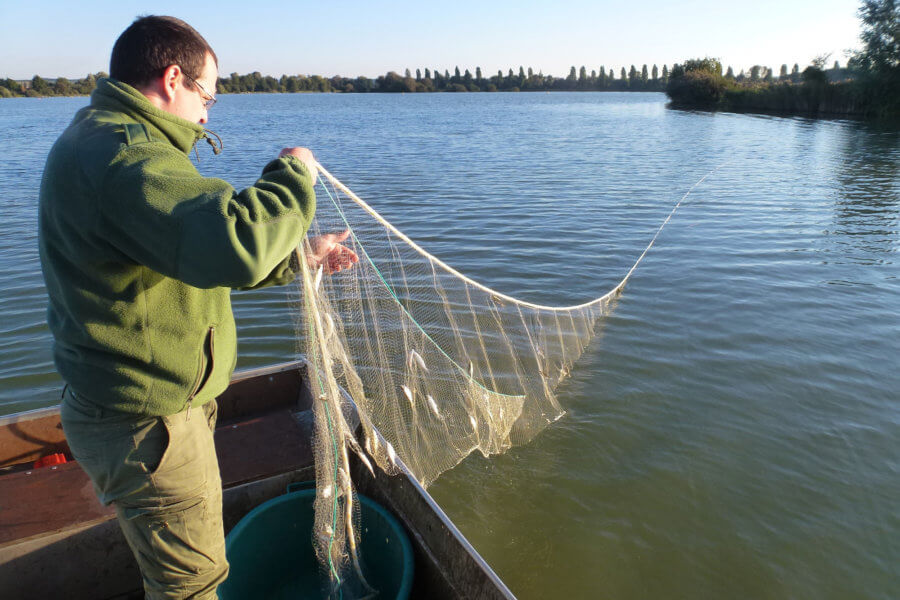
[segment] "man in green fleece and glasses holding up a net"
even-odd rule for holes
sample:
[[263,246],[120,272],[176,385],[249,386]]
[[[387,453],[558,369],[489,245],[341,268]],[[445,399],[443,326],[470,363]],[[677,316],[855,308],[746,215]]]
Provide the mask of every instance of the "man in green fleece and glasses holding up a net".
[[[229,295],[291,281],[315,210],[305,148],[282,150],[240,192],[190,162],[216,101],[216,60],[183,21],[136,20],[41,184],[63,427],[115,505],[148,598],[213,598],[227,576],[212,429],[236,360]],[[313,240],[313,266],[356,262],[346,235]]]

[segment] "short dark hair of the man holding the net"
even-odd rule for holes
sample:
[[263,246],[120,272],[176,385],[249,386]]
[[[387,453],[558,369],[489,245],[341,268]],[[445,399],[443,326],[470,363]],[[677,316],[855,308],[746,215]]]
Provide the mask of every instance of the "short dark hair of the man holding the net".
[[161,77],[170,65],[178,65],[187,75],[199,79],[207,52],[218,64],[209,43],[181,19],[138,17],[113,46],[109,76],[139,87]]

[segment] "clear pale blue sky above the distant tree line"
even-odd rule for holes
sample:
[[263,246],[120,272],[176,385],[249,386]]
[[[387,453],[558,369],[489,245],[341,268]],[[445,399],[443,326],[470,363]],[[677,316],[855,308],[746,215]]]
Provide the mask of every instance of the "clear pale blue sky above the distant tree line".
[[215,48],[222,75],[374,77],[456,65],[486,75],[585,65],[638,69],[714,56],[735,72],[859,46],[859,0],[420,0],[393,2],[101,2],[0,0],[0,77],[83,77],[108,70],[139,14],[186,20]]

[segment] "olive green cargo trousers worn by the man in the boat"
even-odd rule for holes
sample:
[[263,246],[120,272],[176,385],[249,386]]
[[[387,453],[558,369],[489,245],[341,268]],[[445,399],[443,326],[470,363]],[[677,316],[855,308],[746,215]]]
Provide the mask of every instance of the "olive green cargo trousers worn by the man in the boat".
[[228,576],[215,400],[166,417],[100,408],[67,388],[60,409],[72,454],[113,504],[146,598],[207,599]]

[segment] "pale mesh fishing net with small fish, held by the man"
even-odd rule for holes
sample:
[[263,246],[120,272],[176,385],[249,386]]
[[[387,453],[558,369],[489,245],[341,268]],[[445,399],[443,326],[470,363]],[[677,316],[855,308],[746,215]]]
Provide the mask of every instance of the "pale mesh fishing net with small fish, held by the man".
[[[310,236],[349,229],[345,245],[359,255],[352,269],[331,276],[300,260],[299,335],[316,398],[313,543],[335,593],[347,576],[362,577],[348,453],[388,474],[405,465],[428,486],[476,450],[489,456],[528,442],[562,416],[554,390],[637,263],[592,302],[517,300],[430,255],[320,172]],[[346,395],[357,408],[361,442],[342,412]],[[364,579],[361,585],[370,591]]]

